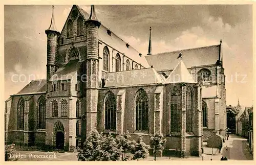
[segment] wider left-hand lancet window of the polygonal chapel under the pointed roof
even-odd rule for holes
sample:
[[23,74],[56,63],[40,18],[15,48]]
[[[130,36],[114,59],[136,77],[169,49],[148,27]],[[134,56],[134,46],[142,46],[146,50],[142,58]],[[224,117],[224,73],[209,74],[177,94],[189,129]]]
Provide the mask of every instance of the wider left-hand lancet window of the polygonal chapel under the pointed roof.
[[181,131],[181,90],[174,86],[170,92],[170,132]]

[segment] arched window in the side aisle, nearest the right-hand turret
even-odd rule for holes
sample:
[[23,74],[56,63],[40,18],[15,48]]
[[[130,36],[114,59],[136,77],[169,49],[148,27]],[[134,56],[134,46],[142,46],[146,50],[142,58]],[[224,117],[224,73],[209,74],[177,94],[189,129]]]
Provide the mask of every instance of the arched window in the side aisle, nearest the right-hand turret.
[[116,130],[116,98],[112,92],[105,98],[105,129]]

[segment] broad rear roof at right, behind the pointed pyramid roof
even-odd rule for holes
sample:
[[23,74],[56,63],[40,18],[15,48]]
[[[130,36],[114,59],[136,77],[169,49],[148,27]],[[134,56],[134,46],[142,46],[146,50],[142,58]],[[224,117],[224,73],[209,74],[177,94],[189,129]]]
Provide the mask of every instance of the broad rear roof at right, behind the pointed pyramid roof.
[[219,60],[219,45],[204,46],[194,49],[165,52],[145,56],[148,64],[159,70],[170,70],[175,67],[179,59],[179,52],[182,53],[182,60],[187,67],[216,64]]

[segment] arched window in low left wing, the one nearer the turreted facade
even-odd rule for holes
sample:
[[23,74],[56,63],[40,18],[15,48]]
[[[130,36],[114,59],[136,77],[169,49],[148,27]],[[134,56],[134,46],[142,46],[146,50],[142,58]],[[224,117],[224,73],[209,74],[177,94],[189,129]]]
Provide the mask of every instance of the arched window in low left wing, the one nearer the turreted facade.
[[43,96],[38,99],[37,129],[46,129],[46,99]]

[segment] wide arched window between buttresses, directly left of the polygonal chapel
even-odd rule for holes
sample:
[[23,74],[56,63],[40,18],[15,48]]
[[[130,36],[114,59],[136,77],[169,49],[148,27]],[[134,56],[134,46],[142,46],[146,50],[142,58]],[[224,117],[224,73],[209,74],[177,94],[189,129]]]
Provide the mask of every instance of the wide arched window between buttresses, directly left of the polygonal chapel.
[[148,131],[148,98],[145,90],[139,89],[136,97],[136,131]]

